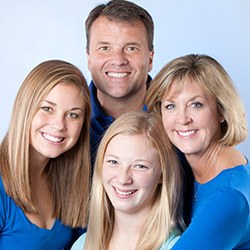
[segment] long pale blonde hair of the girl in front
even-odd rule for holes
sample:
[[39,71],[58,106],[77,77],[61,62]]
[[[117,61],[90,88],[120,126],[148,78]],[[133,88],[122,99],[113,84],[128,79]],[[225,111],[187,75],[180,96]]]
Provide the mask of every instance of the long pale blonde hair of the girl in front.
[[156,148],[162,167],[162,183],[140,232],[136,249],[158,249],[169,233],[182,227],[181,168],[177,155],[165,134],[160,116],[156,113],[133,111],[120,116],[106,131],[96,157],[89,208],[89,222],[84,249],[108,249],[113,233],[114,208],[102,184],[102,164],[107,145],[118,134],[146,135]]

